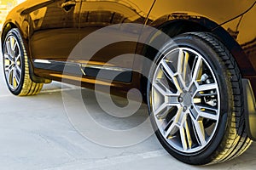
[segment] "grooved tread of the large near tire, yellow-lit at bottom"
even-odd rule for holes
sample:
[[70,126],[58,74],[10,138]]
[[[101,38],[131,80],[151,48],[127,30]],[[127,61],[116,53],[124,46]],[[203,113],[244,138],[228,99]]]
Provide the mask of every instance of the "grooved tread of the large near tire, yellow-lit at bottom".
[[232,115],[230,117],[230,120],[232,121],[227,127],[227,135],[225,135],[225,139],[222,144],[220,144],[220,147],[223,147],[223,150],[218,152],[209,164],[229,161],[236,156],[240,156],[245,150],[247,150],[250,144],[252,144],[252,140],[247,137],[245,128],[241,73],[232,54],[230,54],[229,50],[224,47],[224,44],[219,42],[219,40],[212,34],[207,32],[191,32],[188,36],[189,35],[198,37],[210,45],[212,49],[218,53],[230,74],[234,101]]

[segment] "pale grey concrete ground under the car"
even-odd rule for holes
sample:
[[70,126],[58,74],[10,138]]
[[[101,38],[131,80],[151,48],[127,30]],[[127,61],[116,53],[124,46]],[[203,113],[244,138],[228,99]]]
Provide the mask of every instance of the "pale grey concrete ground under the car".
[[[177,161],[162,149],[154,135],[126,147],[96,144],[76,130],[69,119],[76,111],[67,114],[68,106],[63,102],[62,93],[67,92],[73,99],[72,107],[79,112],[79,102],[72,97],[78,88],[63,85],[61,89],[61,83],[52,82],[37,96],[15,97],[3,80],[2,57],[0,65],[0,169],[255,169],[255,143],[242,156],[208,167]],[[129,128],[147,117],[146,109],[142,108],[142,114],[119,122],[99,110],[92,91],[83,89],[82,94],[90,105],[90,114],[108,127]],[[98,133],[95,127],[88,128],[90,133]],[[102,135],[103,143],[104,140]]]

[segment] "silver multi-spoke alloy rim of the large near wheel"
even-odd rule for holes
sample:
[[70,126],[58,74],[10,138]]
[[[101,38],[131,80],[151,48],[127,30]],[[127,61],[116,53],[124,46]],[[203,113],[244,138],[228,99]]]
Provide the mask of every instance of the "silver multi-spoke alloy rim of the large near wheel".
[[174,150],[195,153],[218,127],[218,82],[204,57],[191,48],[175,48],[154,71],[150,102],[162,137]]

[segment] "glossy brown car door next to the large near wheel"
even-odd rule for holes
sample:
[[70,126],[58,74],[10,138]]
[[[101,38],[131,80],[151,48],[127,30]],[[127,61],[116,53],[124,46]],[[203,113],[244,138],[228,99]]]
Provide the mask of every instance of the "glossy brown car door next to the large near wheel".
[[[126,56],[118,62],[113,58],[122,54],[134,54],[137,42],[129,42],[127,38],[136,39],[139,32],[132,30],[131,27],[128,28],[130,30],[121,31],[125,28],[118,25],[123,23],[144,25],[153,3],[154,0],[146,3],[141,0],[82,0],[79,40],[89,43],[83,45],[81,54],[73,59],[74,62],[85,64],[84,72],[87,77],[96,77],[101,70],[106,73],[103,74],[105,75],[103,78],[108,79],[109,75],[125,71],[125,75],[117,77],[116,80],[131,81],[133,56]],[[106,43],[104,47],[102,42]]]

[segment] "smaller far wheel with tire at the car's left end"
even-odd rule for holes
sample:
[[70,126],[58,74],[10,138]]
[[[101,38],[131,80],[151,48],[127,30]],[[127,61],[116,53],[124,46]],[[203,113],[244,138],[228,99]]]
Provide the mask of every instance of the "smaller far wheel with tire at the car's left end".
[[13,28],[3,41],[3,72],[12,94],[19,96],[35,95],[43,88],[43,83],[32,81],[28,62],[20,31]]

